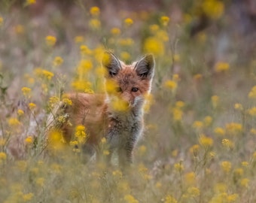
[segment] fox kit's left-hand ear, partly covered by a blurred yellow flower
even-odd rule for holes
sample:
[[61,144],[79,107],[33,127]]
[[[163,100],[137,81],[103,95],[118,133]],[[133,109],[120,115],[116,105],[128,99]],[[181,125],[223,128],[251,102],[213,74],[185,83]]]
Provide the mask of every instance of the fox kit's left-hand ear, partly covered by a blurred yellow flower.
[[114,56],[114,53],[105,51],[102,57],[102,65],[107,69],[107,75],[114,77],[117,75],[118,71],[121,69],[120,61],[117,59],[117,56]]

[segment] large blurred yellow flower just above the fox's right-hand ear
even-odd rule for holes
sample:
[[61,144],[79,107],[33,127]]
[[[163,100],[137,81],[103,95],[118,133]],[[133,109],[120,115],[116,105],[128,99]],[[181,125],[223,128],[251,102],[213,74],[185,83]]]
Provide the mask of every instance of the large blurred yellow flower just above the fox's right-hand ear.
[[162,56],[164,53],[164,44],[159,38],[146,38],[143,50],[145,53],[153,53],[155,56]]

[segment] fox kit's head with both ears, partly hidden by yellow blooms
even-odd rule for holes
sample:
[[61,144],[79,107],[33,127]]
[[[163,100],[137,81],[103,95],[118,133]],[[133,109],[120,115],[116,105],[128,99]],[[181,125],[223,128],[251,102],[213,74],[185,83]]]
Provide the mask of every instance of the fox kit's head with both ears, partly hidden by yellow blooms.
[[108,100],[117,110],[141,108],[151,90],[154,57],[148,54],[132,65],[126,65],[113,53],[105,52],[102,65],[106,68],[105,86]]

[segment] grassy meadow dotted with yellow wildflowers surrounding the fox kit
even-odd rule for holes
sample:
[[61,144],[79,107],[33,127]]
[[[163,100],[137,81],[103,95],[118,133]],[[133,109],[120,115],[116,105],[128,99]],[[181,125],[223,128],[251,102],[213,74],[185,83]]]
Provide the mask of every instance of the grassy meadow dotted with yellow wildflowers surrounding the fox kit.
[[[255,30],[232,1],[61,2],[0,3],[0,202],[256,202]],[[45,144],[65,92],[104,92],[105,50],[156,60],[125,171],[84,162],[76,137]]]

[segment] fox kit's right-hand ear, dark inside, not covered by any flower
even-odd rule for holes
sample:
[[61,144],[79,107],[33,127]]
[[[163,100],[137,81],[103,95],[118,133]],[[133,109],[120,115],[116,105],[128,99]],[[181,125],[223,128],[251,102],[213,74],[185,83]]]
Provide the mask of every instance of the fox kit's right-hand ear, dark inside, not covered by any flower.
[[136,63],[134,69],[142,79],[151,79],[154,76],[154,56],[152,54],[143,56],[142,59]]

